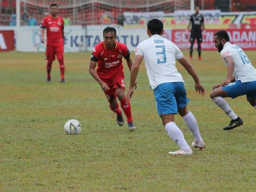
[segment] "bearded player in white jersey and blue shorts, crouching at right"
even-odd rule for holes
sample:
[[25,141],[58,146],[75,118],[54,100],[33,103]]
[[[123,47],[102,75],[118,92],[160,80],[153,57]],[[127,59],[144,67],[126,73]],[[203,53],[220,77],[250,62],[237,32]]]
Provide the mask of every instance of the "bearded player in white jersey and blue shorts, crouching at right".
[[214,34],[214,44],[227,65],[227,79],[212,87],[210,97],[230,118],[230,124],[224,130],[243,125],[243,120],[234,113],[224,97],[232,99],[246,95],[247,101],[256,109],[256,69],[252,66],[244,51],[235,44],[230,44],[226,31]]

